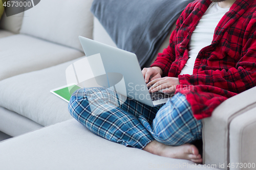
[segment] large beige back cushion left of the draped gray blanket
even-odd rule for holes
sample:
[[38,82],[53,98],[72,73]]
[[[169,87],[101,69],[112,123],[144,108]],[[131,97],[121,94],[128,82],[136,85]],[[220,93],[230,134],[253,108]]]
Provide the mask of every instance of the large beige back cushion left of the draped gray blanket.
[[24,12],[21,33],[82,51],[78,36],[92,38],[93,0],[44,0]]

